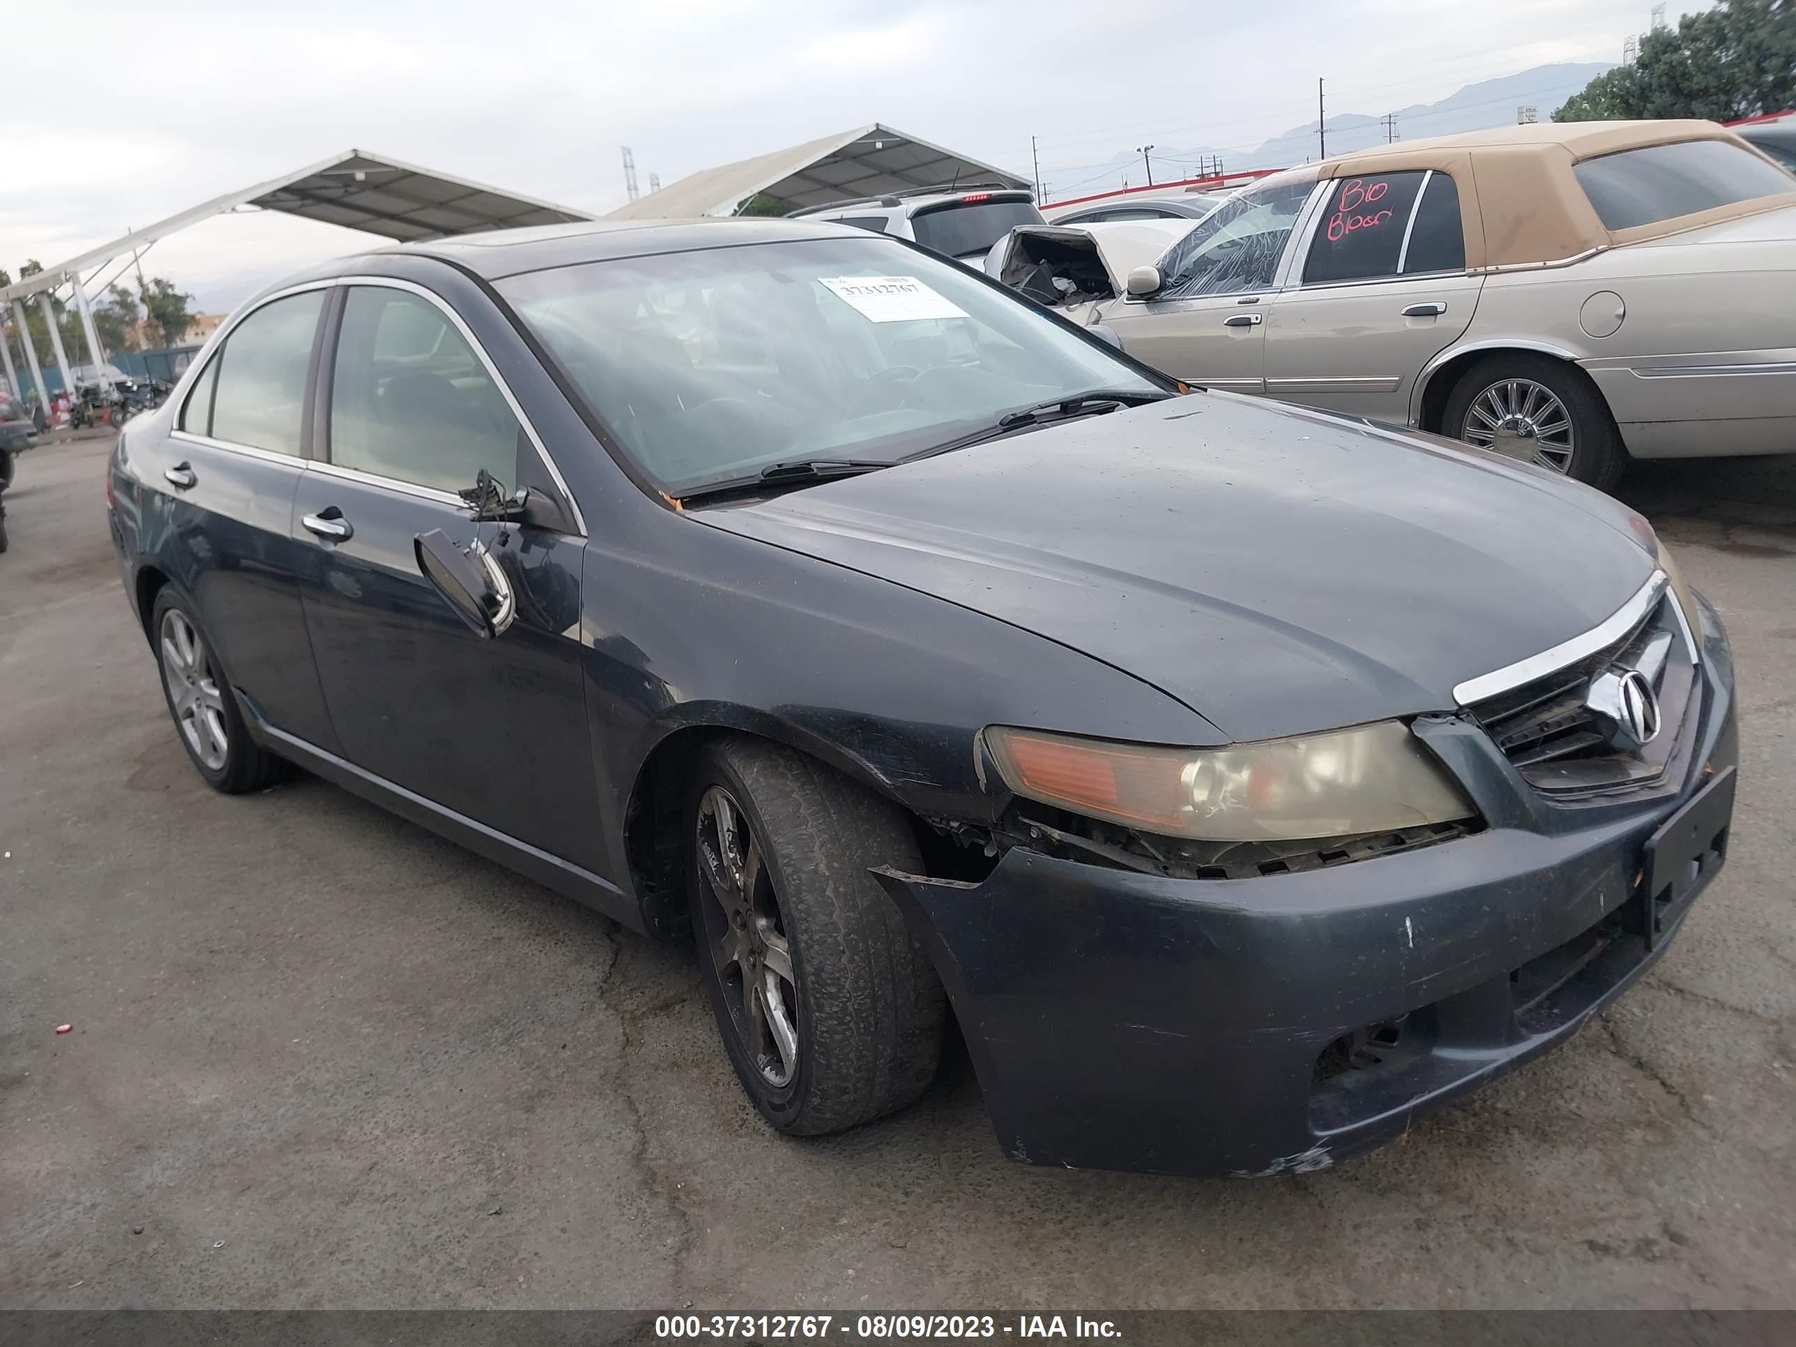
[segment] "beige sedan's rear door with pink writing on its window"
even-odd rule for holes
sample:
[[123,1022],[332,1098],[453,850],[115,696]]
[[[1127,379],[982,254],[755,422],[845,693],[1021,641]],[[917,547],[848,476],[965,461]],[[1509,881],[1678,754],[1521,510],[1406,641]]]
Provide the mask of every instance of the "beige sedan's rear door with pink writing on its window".
[[1471,323],[1482,286],[1466,275],[1451,174],[1338,180],[1302,269],[1268,305],[1266,392],[1406,424],[1417,375]]

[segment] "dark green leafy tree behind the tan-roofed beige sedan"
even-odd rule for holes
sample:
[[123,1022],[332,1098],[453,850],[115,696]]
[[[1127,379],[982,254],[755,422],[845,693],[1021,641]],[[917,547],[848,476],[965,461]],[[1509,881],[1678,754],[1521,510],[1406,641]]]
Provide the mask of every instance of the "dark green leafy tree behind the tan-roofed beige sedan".
[[1740,117],[1796,106],[1796,0],[1724,0],[1654,29],[1633,65],[1597,75],[1555,122]]

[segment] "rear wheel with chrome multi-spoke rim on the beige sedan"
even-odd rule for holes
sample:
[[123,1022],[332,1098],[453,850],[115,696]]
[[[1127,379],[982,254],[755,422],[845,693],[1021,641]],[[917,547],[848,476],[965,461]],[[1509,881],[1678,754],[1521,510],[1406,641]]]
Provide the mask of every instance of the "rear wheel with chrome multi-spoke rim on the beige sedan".
[[1503,352],[1476,361],[1448,395],[1442,435],[1521,458],[1598,490],[1622,480],[1627,451],[1602,395],[1550,356]]

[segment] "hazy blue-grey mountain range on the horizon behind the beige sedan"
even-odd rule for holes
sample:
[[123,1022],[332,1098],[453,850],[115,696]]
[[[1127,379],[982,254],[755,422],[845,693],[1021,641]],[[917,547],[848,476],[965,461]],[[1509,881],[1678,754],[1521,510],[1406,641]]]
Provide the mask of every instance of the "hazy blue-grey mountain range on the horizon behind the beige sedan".
[[[1483,131],[1491,126],[1512,124],[1518,117],[1518,108],[1523,106],[1537,108],[1539,120],[1546,122],[1552,120],[1559,104],[1609,68],[1602,61],[1561,63],[1519,70],[1498,79],[1480,79],[1476,84],[1466,84],[1439,102],[1415,102],[1408,108],[1394,110],[1395,120],[1390,129],[1401,140]],[[1383,113],[1336,113],[1329,117],[1324,124],[1327,153],[1342,154],[1383,144],[1387,138],[1383,117]],[[1239,147],[1218,149],[1214,145],[1160,145],[1153,153],[1155,178],[1189,178],[1200,171],[1200,163],[1218,158],[1223,169],[1230,172],[1239,169],[1286,169],[1293,163],[1304,163],[1316,158],[1316,124],[1293,126],[1290,131],[1282,131],[1272,140],[1246,151]],[[1106,171],[1114,172],[1114,178],[1108,181],[1105,180]],[[1128,180],[1126,185],[1139,187],[1142,183],[1142,165],[1139,154],[1119,151],[1108,160],[1087,165],[1043,169],[1043,178],[1047,180],[1049,199],[1056,198],[1056,183],[1074,181],[1079,183],[1078,189],[1067,189],[1058,196],[1087,196],[1122,187],[1124,180]]]

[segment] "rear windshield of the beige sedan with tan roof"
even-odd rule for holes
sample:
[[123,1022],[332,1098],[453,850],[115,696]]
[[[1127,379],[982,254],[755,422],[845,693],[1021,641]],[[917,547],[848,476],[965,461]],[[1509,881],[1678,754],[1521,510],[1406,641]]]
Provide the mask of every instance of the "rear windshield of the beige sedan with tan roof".
[[1584,160],[1573,172],[1609,230],[1796,192],[1796,183],[1778,165],[1728,140],[1624,149]]

